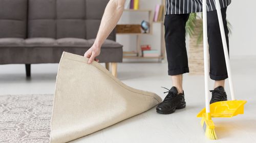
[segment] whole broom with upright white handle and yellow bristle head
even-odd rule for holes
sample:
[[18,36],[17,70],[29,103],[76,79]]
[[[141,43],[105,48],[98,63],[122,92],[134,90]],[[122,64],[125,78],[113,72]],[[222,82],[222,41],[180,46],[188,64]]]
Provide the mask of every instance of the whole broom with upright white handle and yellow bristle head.
[[[219,0],[217,0],[219,1]],[[203,126],[205,135],[209,139],[217,139],[215,133],[215,125],[210,117],[210,104],[209,104],[209,64],[208,64],[208,41],[207,41],[207,11],[206,0],[203,0],[203,46],[204,46],[204,82],[205,82],[205,108],[206,112],[202,116],[201,126]]]

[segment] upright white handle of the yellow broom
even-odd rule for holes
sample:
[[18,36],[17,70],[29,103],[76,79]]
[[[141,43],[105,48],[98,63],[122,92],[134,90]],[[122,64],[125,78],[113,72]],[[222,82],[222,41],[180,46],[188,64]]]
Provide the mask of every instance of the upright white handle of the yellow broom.
[[207,40],[207,10],[206,0],[203,0],[203,44],[204,44],[204,86],[205,86],[205,108],[210,112],[209,105],[209,63],[208,63],[208,40]]

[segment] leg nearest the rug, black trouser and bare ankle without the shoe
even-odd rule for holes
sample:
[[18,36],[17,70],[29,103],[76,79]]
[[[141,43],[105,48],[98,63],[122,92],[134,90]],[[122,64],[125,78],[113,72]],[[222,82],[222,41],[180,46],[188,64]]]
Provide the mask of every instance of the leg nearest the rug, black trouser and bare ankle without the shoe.
[[168,75],[172,76],[173,86],[182,89],[182,74],[189,72],[187,51],[185,43],[185,25],[189,14],[166,15],[165,26],[165,47],[168,61]]

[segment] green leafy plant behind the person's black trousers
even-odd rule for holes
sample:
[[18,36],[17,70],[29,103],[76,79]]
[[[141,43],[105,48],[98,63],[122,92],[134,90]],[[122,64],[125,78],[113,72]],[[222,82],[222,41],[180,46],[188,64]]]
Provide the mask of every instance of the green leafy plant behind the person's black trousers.
[[[198,16],[197,13],[190,13],[189,18],[187,20],[185,29],[186,29],[186,35],[189,37],[193,37],[195,34],[195,26],[196,26],[196,20],[202,19],[202,15]],[[229,34],[232,34],[232,25],[227,20],[227,27]],[[200,25],[200,33],[197,37],[197,44],[201,43],[203,41],[203,23]]]

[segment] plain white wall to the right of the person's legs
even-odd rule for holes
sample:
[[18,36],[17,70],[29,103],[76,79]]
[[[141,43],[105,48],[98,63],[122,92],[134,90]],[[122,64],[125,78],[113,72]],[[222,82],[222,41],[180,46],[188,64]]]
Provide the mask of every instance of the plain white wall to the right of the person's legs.
[[227,9],[227,19],[231,23],[231,56],[256,56],[256,1],[232,1]]

